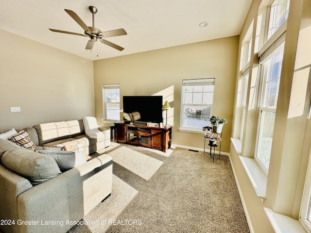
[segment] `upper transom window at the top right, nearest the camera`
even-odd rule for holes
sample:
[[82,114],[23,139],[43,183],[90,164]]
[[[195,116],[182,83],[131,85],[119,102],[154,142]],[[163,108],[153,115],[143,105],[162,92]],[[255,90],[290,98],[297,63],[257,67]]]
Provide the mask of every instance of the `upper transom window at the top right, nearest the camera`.
[[285,22],[288,17],[290,0],[275,0],[271,5],[268,39]]

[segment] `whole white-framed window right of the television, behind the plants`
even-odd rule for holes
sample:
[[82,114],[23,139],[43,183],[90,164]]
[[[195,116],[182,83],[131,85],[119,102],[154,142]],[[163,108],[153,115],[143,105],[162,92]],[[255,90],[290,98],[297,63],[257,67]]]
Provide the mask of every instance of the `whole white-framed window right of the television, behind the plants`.
[[215,79],[183,80],[180,128],[200,131],[209,125],[212,112]]

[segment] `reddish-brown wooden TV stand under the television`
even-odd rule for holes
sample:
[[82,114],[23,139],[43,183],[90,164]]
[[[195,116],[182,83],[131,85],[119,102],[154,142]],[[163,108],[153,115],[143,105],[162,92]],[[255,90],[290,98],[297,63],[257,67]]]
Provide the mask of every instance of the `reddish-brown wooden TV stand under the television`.
[[171,147],[172,126],[168,128],[115,123],[115,142],[166,152]]

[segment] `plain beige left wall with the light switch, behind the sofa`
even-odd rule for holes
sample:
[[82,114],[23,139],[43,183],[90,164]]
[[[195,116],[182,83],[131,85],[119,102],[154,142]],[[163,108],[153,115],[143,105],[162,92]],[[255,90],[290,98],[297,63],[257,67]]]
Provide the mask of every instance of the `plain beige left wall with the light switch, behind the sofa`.
[[0,129],[95,116],[92,61],[2,30],[0,51]]

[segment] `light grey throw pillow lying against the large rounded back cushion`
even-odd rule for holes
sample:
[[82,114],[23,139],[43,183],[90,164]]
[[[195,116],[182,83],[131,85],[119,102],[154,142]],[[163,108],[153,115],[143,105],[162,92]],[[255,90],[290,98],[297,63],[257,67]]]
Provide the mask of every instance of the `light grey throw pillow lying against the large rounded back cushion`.
[[81,150],[39,150],[38,152],[51,156],[62,172],[86,162]]

